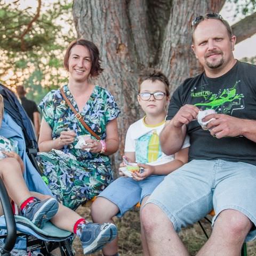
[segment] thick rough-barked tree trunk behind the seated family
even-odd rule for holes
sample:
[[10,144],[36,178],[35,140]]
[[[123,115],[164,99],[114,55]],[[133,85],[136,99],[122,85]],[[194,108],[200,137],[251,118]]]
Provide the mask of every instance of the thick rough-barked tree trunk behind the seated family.
[[74,0],[78,37],[94,42],[105,70],[97,83],[115,97],[121,147],[127,128],[142,117],[137,102],[137,78],[144,68],[161,69],[170,79],[171,92],[201,69],[190,50],[194,17],[219,12],[225,0]]

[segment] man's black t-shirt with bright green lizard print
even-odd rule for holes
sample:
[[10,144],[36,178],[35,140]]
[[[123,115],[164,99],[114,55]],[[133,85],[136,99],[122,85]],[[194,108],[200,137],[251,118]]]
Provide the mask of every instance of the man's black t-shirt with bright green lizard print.
[[[256,119],[256,66],[237,61],[220,77],[209,78],[203,73],[186,79],[172,95],[167,119],[185,104],[238,118]],[[187,125],[187,132],[191,145],[189,161],[223,159],[256,165],[256,143],[245,137],[214,138],[197,121]]]

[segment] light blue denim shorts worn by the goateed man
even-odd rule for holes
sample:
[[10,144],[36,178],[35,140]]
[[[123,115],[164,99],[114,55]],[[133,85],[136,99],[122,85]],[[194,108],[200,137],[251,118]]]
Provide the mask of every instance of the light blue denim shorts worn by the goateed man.
[[254,223],[246,237],[251,241],[256,238],[256,166],[193,160],[167,175],[148,203],[162,209],[177,231],[202,219],[212,209],[212,226],[221,211],[235,209]]

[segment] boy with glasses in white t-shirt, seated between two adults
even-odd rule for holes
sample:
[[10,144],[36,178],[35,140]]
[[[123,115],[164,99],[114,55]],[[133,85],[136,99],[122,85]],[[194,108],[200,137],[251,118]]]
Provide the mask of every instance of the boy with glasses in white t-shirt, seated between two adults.
[[[159,144],[169,100],[169,81],[161,72],[150,70],[140,76],[138,101],[146,116],[129,127],[124,157],[129,162],[137,162],[143,172],[134,172],[132,178],[118,178],[103,190],[92,204],[93,221],[113,222],[115,215],[121,217],[138,202],[143,206],[165,175],[187,163],[188,138],[175,156],[166,156]],[[149,255],[142,229],[141,239],[143,255]],[[117,239],[102,251],[105,256],[117,256]]]

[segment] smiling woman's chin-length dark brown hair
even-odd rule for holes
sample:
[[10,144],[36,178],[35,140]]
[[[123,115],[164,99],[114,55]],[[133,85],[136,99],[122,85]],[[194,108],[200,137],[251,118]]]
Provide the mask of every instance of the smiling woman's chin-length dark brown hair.
[[70,51],[75,45],[82,45],[88,49],[88,51],[90,53],[91,61],[92,61],[92,68],[90,71],[90,75],[98,76],[103,71],[103,68],[101,68],[101,66],[100,66],[101,60],[99,57],[99,50],[94,43],[87,41],[85,39],[76,39],[69,44],[68,49],[65,53],[65,57],[64,57],[65,69],[68,70],[68,59],[70,56]]

